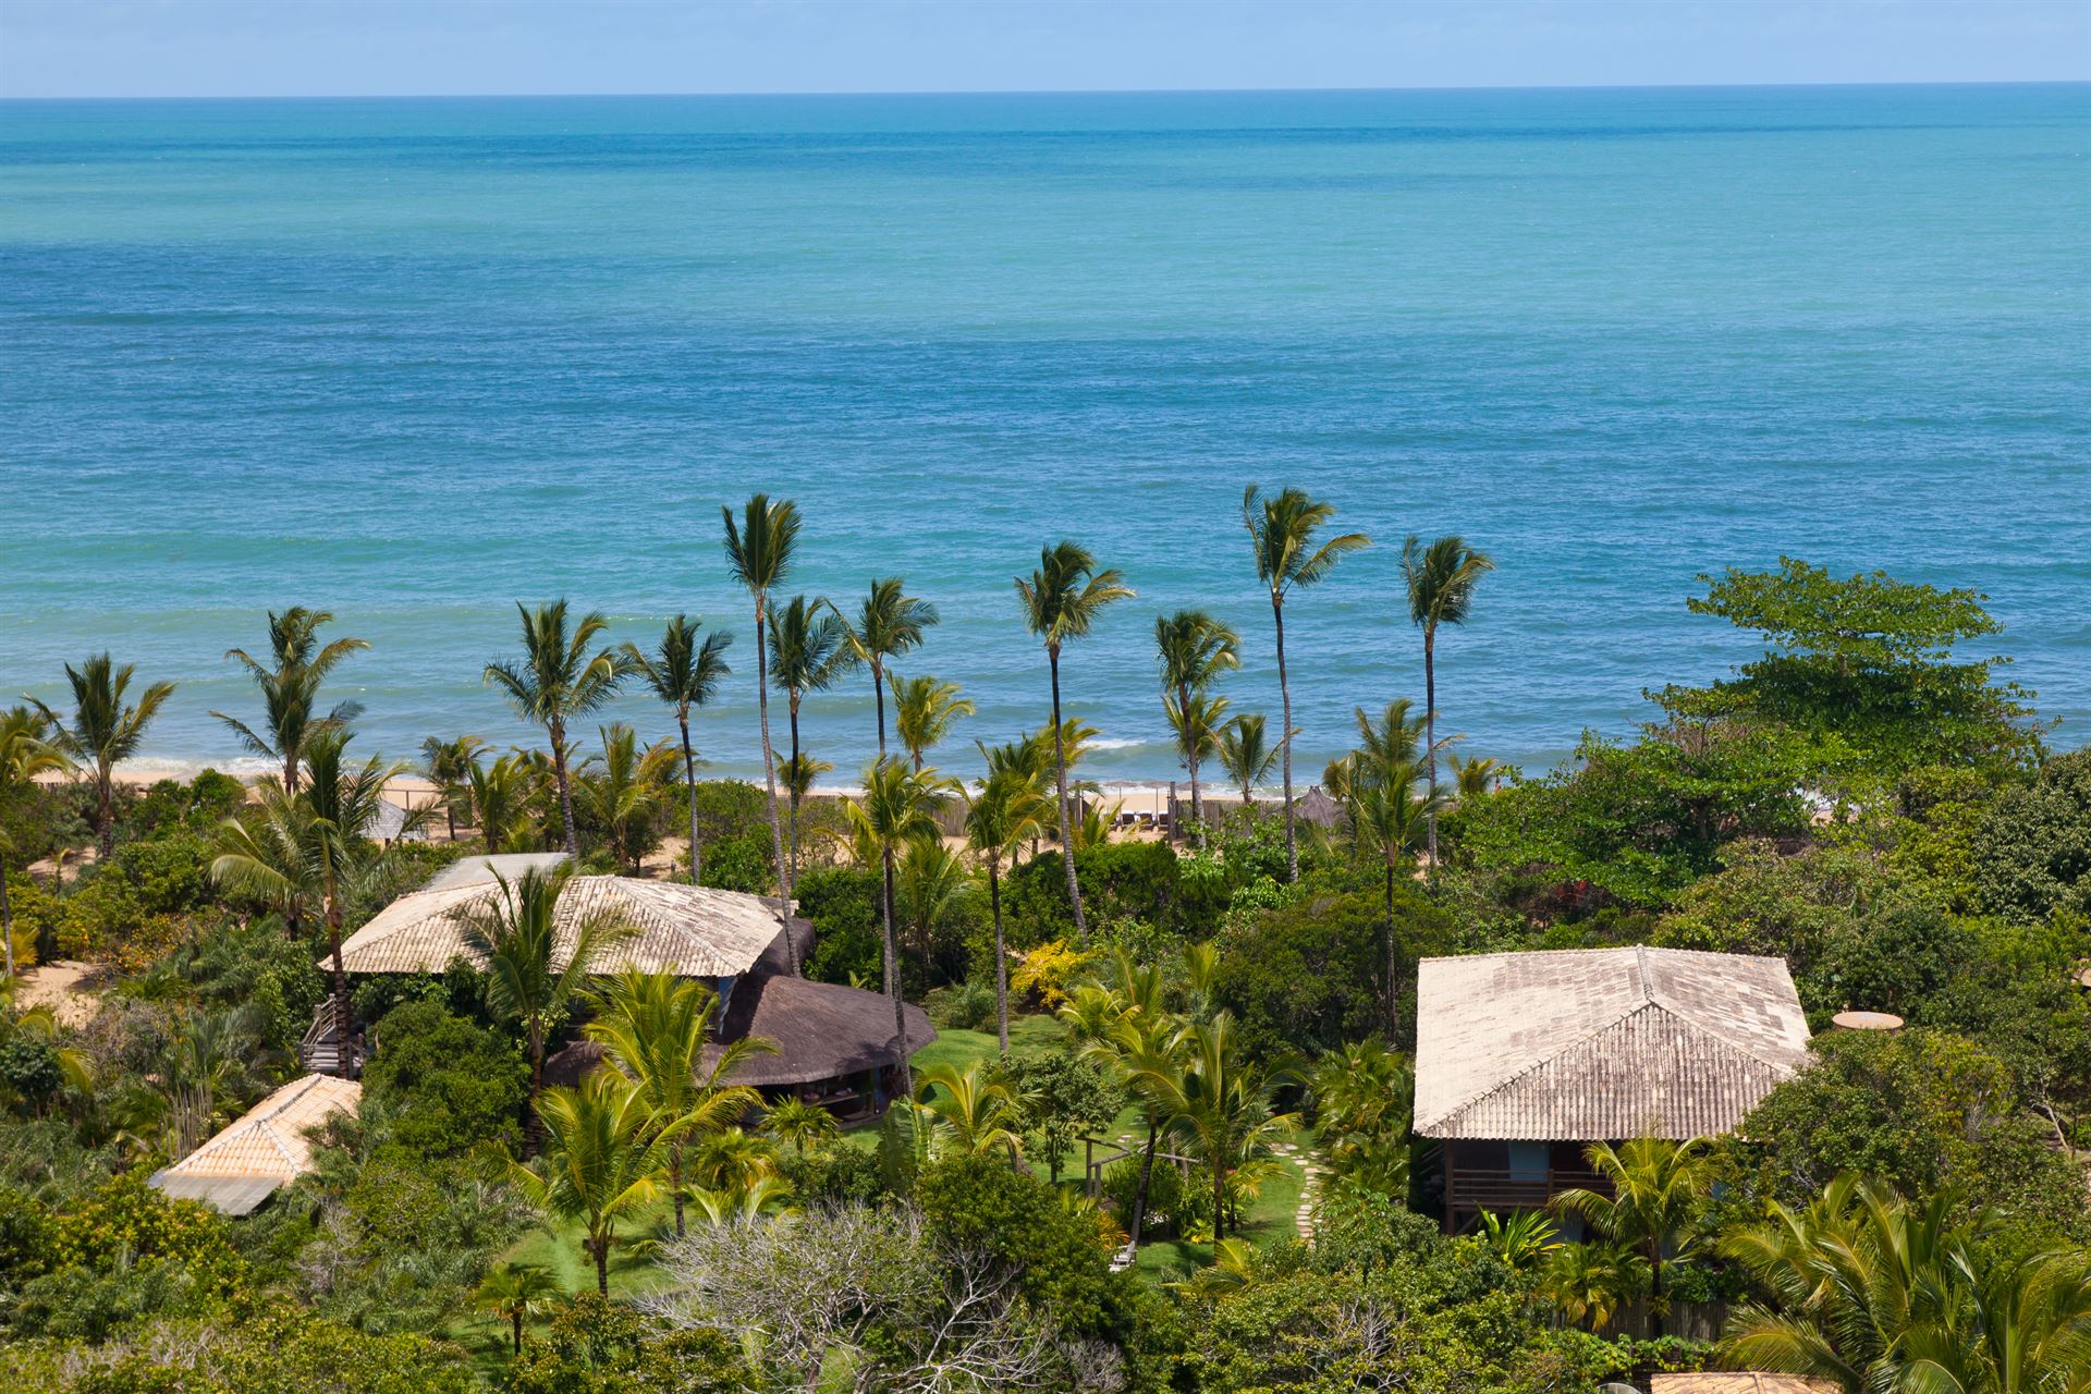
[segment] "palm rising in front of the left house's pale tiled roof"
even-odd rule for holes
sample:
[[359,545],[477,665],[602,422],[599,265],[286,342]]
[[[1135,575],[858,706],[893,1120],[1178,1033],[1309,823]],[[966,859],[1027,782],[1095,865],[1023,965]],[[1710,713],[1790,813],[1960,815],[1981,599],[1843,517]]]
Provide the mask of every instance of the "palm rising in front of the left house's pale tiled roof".
[[[606,909],[571,915],[573,924],[562,926],[558,897],[571,878],[571,861],[550,872],[531,867],[514,882],[496,874],[496,895],[452,911],[464,926],[464,947],[485,968],[487,1005],[523,1026],[531,1103],[544,1089],[546,1037],[588,984],[590,966],[634,936],[634,928]],[[525,1122],[535,1129],[537,1116],[533,1110]]]

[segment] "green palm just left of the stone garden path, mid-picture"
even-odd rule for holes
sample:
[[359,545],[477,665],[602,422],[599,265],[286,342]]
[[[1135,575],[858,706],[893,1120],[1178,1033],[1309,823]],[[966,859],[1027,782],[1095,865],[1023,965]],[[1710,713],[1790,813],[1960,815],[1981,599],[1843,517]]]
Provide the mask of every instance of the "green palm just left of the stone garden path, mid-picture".
[[1271,1110],[1276,1081],[1250,1064],[1234,1035],[1234,1016],[1177,1028],[1181,1070],[1133,1064],[1138,1087],[1152,1089],[1177,1133],[1213,1172],[1213,1239],[1227,1233],[1227,1177],[1292,1131],[1294,1114]]

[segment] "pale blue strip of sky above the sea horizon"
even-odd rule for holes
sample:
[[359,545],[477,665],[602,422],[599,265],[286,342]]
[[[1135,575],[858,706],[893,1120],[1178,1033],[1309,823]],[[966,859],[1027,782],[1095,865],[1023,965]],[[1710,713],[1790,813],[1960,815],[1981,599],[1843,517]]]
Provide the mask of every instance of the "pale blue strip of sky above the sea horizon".
[[2085,77],[2087,0],[0,0],[0,96]]

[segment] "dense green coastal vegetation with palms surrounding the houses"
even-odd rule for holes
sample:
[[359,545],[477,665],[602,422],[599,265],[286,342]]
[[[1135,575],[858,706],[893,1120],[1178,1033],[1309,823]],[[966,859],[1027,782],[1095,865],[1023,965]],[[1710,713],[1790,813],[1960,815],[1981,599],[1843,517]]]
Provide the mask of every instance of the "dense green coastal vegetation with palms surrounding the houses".
[[[1361,543],[1324,537],[1328,514],[1244,499],[1273,637]],[[1416,711],[1374,694],[1319,775],[1332,821],[1271,800],[1127,842],[1100,798],[1060,792],[1081,794],[1096,738],[1060,683],[1123,577],[1060,545],[1020,581],[1052,719],[958,786],[935,759],[970,708],[895,673],[935,610],[897,581],[855,612],[784,598],[790,504],[757,497],[728,535],[749,671],[682,617],[640,650],[604,646],[600,617],[525,610],[489,681],[548,744],[431,738],[424,842],[387,836],[401,769],[349,757],[358,713],[320,696],[360,648],[326,642],[324,612],[274,614],[270,648],[238,654],[259,715],[228,729],[280,769],[253,792],[117,782],[169,692],[107,656],[69,671],[71,711],[0,719],[0,1386],[2091,1381],[2091,754],[2055,752],[2003,660],[1961,652],[1997,629],[1980,596],[1800,562],[1706,577],[1692,608],[1765,654],[1652,694],[1631,740],[1524,777],[1437,738],[1434,683]],[[1460,539],[1405,560],[1434,652],[1485,612],[1489,562]],[[1242,644],[1200,612],[1156,623],[1186,769],[1236,790],[1290,765],[1219,692]],[[895,748],[857,796],[822,798],[801,696],[849,673]],[[734,681],[761,696],[767,788],[696,777],[688,713]],[[623,683],[661,698],[669,740],[590,740]],[[335,947],[391,897],[514,849],[795,897],[813,976],[935,1014],[914,1099],[838,1135],[732,1087],[730,1062],[696,1068],[707,989],[556,972],[537,932],[556,876],[470,926],[485,970],[339,974]],[[1593,1149],[1612,1195],[1443,1235],[1437,1158],[1409,1135],[1416,961],[1629,943],[1786,957],[1815,1062],[1736,1137]],[[31,1005],[15,974],[54,959],[92,966],[84,995]],[[337,997],[374,1053],[314,1172],[238,1221],[146,1185],[299,1074]],[[1825,1030],[1844,1007],[1907,1026]],[[579,1037],[604,1066],[544,1083]],[[1115,1154],[1096,1200],[1085,1154]]]

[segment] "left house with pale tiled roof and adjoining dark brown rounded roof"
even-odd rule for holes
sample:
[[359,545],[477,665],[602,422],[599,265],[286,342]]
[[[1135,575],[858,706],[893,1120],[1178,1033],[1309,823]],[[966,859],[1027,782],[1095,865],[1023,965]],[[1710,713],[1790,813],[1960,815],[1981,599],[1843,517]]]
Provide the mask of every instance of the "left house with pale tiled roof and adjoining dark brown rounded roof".
[[[351,976],[439,974],[454,959],[475,961],[462,915],[500,897],[502,880],[548,872],[560,861],[560,853],[529,853],[454,863],[355,930],[341,945],[343,968]],[[884,993],[799,978],[792,951],[805,961],[813,926],[790,920],[786,940],[774,899],[631,876],[567,880],[558,922],[573,926],[594,913],[613,913],[638,934],[592,961],[590,972],[613,974],[631,963],[642,972],[703,978],[719,995],[715,1030],[721,1043],[763,1037],[776,1045],[776,1053],[755,1055],[728,1083],[772,1097],[799,1093],[828,1103],[845,1120],[872,1118],[884,1112],[901,1060],[937,1039],[920,1007],[905,1007],[901,1032]],[[569,928],[569,945],[571,934]],[[322,959],[320,968],[326,972],[328,963]],[[546,1078],[577,1083],[596,1060],[600,1049],[577,1041],[546,1062]]]

